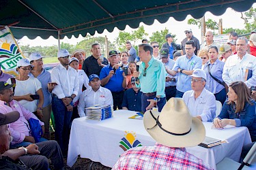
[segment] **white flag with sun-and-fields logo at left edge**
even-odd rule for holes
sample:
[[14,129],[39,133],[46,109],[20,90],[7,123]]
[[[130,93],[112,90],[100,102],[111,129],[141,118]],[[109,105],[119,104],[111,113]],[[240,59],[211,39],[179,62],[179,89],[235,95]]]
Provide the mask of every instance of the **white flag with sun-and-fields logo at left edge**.
[[5,72],[15,74],[13,71],[16,68],[17,62],[25,58],[21,53],[20,48],[9,27],[0,31],[0,66]]

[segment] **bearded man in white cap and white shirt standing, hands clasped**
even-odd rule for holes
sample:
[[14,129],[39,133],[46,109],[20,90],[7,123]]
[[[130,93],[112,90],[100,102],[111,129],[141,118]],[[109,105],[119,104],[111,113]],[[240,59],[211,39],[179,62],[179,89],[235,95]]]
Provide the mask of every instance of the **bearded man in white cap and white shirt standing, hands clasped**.
[[68,50],[59,50],[57,56],[59,65],[51,73],[52,82],[57,83],[52,92],[52,108],[55,117],[55,140],[59,143],[65,156],[68,152],[70,137],[72,100],[79,92],[79,78],[77,71],[69,66],[70,53]]

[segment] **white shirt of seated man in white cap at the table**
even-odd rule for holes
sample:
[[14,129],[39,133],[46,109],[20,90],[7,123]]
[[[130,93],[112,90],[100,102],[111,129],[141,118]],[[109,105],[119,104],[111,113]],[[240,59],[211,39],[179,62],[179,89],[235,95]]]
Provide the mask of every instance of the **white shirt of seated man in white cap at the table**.
[[216,99],[212,92],[203,88],[203,91],[195,99],[194,90],[184,93],[182,99],[186,103],[191,116],[201,116],[203,122],[212,122],[216,115]]

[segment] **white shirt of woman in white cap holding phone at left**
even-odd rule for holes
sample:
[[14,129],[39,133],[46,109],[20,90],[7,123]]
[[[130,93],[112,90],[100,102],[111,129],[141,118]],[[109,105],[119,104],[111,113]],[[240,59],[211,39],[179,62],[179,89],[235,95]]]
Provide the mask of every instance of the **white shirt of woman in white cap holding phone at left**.
[[[29,77],[25,81],[15,80],[16,86],[14,90],[14,96],[23,96],[31,93],[31,95],[35,95],[36,92],[42,88],[42,84],[39,82],[37,78]],[[12,84],[11,79],[8,79],[8,84]],[[26,101],[21,100],[18,101],[20,105],[23,105],[30,112],[35,112],[38,107],[38,100]]]

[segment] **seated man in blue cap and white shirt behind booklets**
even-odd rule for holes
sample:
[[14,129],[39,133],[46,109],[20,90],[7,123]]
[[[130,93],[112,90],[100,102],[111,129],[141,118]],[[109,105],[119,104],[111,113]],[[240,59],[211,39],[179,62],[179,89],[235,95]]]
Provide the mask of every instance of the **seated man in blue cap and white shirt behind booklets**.
[[79,105],[77,105],[79,110],[79,116],[85,117],[85,108],[94,105],[113,105],[113,98],[111,91],[107,88],[100,86],[100,78],[97,74],[91,74],[89,76],[89,86],[83,91],[79,99]]

